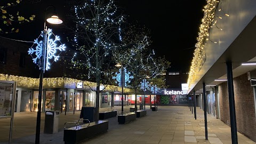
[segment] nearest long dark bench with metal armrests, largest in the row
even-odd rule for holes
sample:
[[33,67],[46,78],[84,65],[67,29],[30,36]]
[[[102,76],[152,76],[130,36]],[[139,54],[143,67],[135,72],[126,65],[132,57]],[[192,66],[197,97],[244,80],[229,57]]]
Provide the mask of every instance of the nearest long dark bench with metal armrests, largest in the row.
[[[85,119],[83,119],[85,120]],[[75,122],[69,122],[75,123]],[[65,123],[66,125],[66,123]],[[76,126],[64,128],[64,137],[63,141],[65,144],[75,144],[86,139],[90,139],[99,135],[100,133],[104,133],[108,131],[108,121],[95,121],[89,122],[87,124],[79,125],[76,123]]]

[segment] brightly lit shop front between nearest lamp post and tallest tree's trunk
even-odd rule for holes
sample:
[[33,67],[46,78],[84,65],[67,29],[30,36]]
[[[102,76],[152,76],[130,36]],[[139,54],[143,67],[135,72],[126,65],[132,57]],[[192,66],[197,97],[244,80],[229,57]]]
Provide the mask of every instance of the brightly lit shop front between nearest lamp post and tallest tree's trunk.
[[[33,94],[33,110],[38,111],[38,91]],[[42,111],[59,110],[61,113],[95,106],[95,92],[75,89],[44,89]],[[66,110],[67,109],[67,110]]]

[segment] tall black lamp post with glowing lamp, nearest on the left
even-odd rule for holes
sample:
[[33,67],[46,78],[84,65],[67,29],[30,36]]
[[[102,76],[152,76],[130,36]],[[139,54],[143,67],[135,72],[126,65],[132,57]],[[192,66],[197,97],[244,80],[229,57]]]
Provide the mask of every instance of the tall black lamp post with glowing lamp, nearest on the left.
[[60,24],[62,23],[62,20],[60,20],[57,15],[52,15],[51,18],[46,19],[46,11],[50,7],[54,8],[53,5],[48,6],[45,9],[45,19],[44,19],[44,31],[43,31],[43,44],[42,44],[42,51],[41,51],[41,65],[40,65],[40,76],[39,76],[39,95],[38,95],[38,111],[37,111],[37,119],[36,119],[36,140],[35,143],[39,143],[39,138],[40,138],[40,125],[41,125],[41,105],[42,105],[42,91],[43,91],[43,77],[44,77],[44,71],[45,71],[45,59],[46,59],[46,53],[47,53],[47,35],[48,35],[48,30],[47,27],[45,26],[45,21],[52,23],[52,24]]

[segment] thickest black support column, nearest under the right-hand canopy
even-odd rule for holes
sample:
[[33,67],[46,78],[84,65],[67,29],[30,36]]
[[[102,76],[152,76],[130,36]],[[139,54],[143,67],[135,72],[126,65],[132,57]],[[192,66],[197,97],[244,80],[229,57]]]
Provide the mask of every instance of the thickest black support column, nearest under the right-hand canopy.
[[230,125],[231,125],[231,139],[232,139],[232,143],[236,144],[238,143],[238,141],[237,141],[237,129],[236,129],[236,110],[235,110],[232,62],[227,61],[226,65],[227,65],[227,78],[228,78],[228,100],[229,100],[229,114],[230,114]]

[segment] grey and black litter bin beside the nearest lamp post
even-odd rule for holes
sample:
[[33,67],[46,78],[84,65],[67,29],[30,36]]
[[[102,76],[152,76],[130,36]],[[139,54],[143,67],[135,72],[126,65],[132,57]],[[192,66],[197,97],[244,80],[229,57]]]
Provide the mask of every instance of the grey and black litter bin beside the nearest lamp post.
[[57,133],[59,129],[59,111],[45,111],[44,133]]

